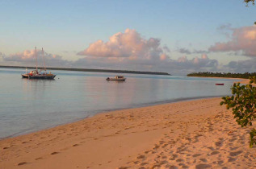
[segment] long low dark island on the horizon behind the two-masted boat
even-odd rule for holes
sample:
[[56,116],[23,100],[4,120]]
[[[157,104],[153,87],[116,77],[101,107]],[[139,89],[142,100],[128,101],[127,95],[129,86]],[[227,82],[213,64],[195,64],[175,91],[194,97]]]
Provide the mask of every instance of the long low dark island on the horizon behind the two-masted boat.
[[[0,68],[29,68],[36,69],[36,67],[29,66],[2,66]],[[40,69],[40,68],[39,68]],[[80,72],[116,72],[116,73],[132,73],[145,75],[168,75],[167,72],[144,72],[144,71],[130,71],[130,70],[108,70],[108,69],[93,69],[93,68],[47,68],[48,70],[65,70],[65,71],[80,71]]]

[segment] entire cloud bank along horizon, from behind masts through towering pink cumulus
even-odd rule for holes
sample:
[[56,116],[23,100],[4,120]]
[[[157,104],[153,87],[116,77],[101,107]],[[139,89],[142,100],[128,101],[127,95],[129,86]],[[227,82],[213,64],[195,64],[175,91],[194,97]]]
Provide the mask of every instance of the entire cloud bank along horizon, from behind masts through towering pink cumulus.
[[[139,71],[170,72],[185,75],[188,72],[215,71],[217,60],[211,60],[206,54],[187,59],[187,56],[173,60],[167,55],[170,49],[162,47],[161,39],[142,38],[136,30],[126,29],[116,33],[106,43],[98,40],[91,43],[78,55],[85,56],[75,61],[63,60],[61,56],[45,53],[47,66],[73,68],[107,68]],[[38,56],[40,56],[40,51]],[[4,61],[15,61],[19,64],[35,64],[34,50],[3,56]]]

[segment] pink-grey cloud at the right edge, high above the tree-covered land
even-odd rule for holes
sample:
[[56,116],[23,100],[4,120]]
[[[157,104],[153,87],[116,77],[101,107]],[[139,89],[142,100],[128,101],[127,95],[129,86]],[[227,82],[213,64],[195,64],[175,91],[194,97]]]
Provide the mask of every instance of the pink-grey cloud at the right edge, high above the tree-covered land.
[[231,40],[215,43],[209,47],[210,52],[242,52],[245,56],[256,56],[256,27],[233,29]]

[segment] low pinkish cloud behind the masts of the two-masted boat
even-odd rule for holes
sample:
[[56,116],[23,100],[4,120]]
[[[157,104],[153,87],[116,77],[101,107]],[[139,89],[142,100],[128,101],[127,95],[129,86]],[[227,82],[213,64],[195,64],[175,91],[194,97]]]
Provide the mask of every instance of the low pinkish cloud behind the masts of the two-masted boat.
[[[43,66],[44,65],[44,60],[42,56],[42,52],[38,51],[35,52],[35,50],[25,50],[23,52],[11,54],[10,56],[3,56],[2,59],[5,62],[16,62],[19,64],[23,65],[36,65],[36,55],[37,55],[37,60],[38,60],[38,65]],[[47,52],[44,52],[44,58],[45,58],[45,63],[46,66],[48,67],[53,67],[53,66],[69,66],[72,64],[68,60],[63,60],[62,56],[58,55],[52,55],[48,54]]]

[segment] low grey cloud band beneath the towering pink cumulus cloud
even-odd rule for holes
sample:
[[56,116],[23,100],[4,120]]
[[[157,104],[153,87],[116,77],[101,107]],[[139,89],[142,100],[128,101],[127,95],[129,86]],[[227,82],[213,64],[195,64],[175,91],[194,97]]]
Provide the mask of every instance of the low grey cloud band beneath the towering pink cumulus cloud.
[[189,72],[214,71],[218,70],[217,60],[211,60],[206,54],[187,59],[187,56],[171,60],[165,54],[162,60],[128,60],[127,58],[113,59],[110,57],[85,57],[81,58],[73,66],[79,68],[108,68],[108,69],[128,69],[138,71],[170,72],[174,75],[187,75]]

